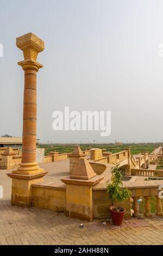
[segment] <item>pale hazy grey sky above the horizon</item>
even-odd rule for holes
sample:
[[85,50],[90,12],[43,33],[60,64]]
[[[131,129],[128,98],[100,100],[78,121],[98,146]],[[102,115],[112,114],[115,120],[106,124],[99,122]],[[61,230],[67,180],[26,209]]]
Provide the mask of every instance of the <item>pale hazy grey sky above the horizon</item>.
[[[45,41],[38,61],[41,142],[147,142],[163,139],[163,1],[0,0],[0,136],[22,135],[24,74],[16,37]],[[111,135],[53,131],[55,110],[111,111]]]

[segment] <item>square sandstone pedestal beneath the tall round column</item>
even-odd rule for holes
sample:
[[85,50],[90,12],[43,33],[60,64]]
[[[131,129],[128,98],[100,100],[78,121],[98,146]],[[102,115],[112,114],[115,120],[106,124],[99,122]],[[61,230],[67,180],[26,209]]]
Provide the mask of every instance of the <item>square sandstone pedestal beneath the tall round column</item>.
[[[20,174],[21,173],[21,174]],[[23,174],[21,171],[13,171],[7,175],[12,178],[11,205],[30,208],[32,206],[32,184],[43,181],[44,172],[42,168],[39,172]]]

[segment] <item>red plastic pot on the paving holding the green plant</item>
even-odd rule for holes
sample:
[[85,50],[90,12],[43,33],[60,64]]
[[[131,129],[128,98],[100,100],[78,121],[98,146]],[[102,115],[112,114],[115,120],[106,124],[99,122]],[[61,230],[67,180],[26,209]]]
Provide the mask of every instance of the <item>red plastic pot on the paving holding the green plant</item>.
[[120,226],[122,224],[123,221],[123,216],[124,216],[124,212],[126,212],[126,209],[124,209],[122,206],[118,206],[118,208],[121,208],[121,211],[116,211],[117,206],[110,206],[110,212],[111,212],[111,218],[112,218],[112,223],[114,225],[118,225]]

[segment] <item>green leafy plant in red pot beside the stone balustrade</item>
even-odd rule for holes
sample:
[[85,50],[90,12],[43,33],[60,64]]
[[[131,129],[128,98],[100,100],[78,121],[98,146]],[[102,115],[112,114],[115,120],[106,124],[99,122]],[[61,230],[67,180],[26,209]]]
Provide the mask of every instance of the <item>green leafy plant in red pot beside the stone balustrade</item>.
[[114,167],[111,168],[111,181],[107,185],[107,193],[109,194],[109,199],[112,202],[112,206],[110,206],[110,212],[112,217],[112,223],[115,225],[121,225],[124,212],[122,206],[115,206],[114,203],[116,201],[123,202],[130,198],[131,192],[128,190],[127,187],[123,187],[122,184],[122,174],[121,171],[118,170],[119,164],[115,164]]

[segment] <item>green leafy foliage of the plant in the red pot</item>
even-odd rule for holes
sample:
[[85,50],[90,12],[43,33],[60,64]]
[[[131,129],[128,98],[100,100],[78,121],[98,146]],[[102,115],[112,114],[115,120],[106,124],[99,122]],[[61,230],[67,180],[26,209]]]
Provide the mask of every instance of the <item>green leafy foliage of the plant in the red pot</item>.
[[118,170],[118,166],[119,164],[115,164],[115,166],[111,168],[112,183],[107,185],[107,193],[109,194],[109,199],[112,203],[114,203],[116,200],[120,202],[126,201],[131,195],[128,188],[123,187],[122,174],[121,171]]

